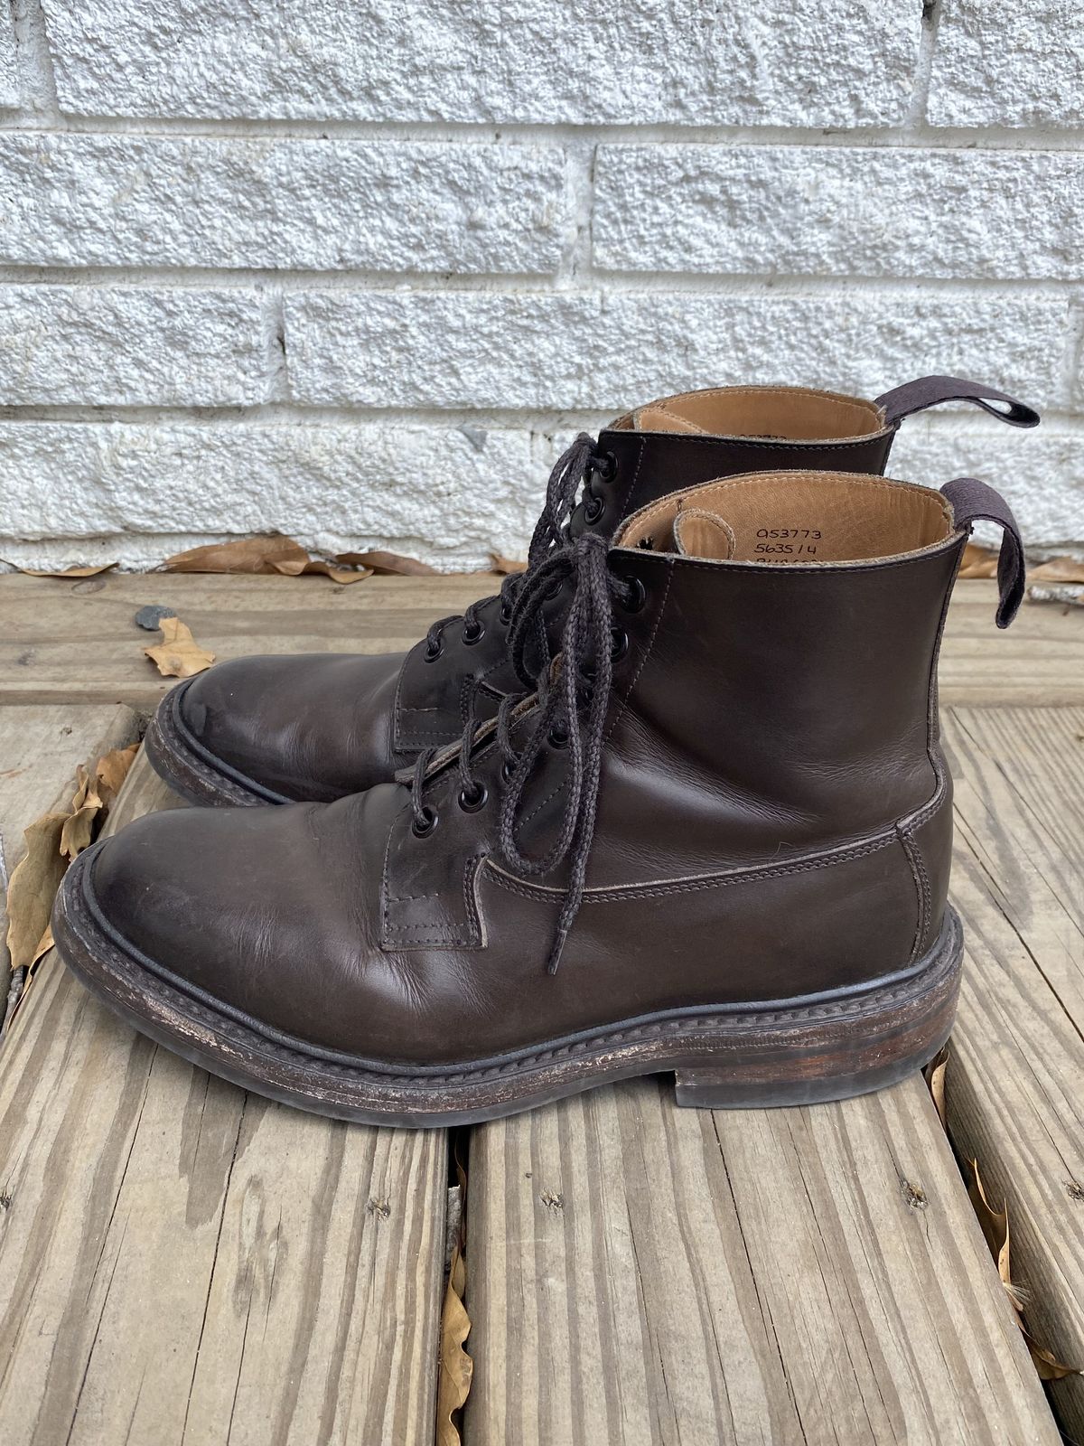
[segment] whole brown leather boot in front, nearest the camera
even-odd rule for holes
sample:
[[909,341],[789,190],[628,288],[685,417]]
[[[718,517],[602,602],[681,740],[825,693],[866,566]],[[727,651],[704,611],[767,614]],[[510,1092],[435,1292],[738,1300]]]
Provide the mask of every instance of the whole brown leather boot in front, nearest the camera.
[[[983,483],[724,479],[519,591],[522,697],[332,804],[140,818],[69,869],[61,953],[215,1074],[345,1119],[489,1119],[632,1074],[685,1105],[877,1089],[945,1040],[937,652]],[[561,654],[530,664],[543,599]]]

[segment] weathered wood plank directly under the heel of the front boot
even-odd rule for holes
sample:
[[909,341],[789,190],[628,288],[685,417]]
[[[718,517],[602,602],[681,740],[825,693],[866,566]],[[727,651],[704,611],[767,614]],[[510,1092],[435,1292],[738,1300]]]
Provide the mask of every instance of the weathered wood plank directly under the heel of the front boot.
[[1058,1442],[918,1077],[600,1090],[477,1129],[470,1192],[467,1446]]

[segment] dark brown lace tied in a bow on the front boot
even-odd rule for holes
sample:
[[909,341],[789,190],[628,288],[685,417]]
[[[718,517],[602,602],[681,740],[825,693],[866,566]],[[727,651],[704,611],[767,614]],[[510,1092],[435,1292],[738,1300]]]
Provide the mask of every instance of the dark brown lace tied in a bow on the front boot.
[[[546,962],[551,975],[556,973],[584,897],[613,665],[629,642],[626,633],[614,626],[614,600],[627,609],[637,609],[643,602],[643,589],[637,581],[610,571],[607,551],[606,538],[593,532],[551,551],[523,574],[509,622],[509,656],[526,691],[506,694],[497,711],[496,743],[504,781],[497,842],[509,868],[528,878],[549,873],[568,859],[568,884]],[[551,661],[548,646],[539,651],[535,642],[546,599],[567,580],[572,581],[572,597],[564,617],[559,655]],[[541,630],[545,636],[545,626]],[[476,697],[477,684],[473,684],[458,750],[460,807],[468,811],[481,808],[487,800],[484,784],[471,769]],[[530,697],[533,706],[529,711],[517,713]],[[512,735],[519,722],[529,730],[523,746],[516,749]],[[542,856],[532,856],[520,849],[516,830],[528,778],[548,745],[568,748],[565,804],[556,839]],[[436,813],[423,797],[425,775],[436,752],[431,748],[418,756],[410,781],[413,830],[419,836],[436,826]]]

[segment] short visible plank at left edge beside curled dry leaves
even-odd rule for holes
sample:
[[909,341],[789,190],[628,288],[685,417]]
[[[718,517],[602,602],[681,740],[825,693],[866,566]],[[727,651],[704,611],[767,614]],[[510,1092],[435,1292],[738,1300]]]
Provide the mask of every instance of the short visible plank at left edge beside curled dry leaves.
[[136,714],[116,704],[0,707],[0,1022],[10,964],[6,881],[26,852],[23,829],[71,803],[77,763],[137,737]]

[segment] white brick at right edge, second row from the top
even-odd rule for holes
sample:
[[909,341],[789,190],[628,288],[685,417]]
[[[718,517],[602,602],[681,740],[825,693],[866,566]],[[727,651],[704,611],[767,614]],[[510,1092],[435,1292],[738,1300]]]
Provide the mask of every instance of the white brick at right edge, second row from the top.
[[614,270],[1075,279],[1084,156],[603,146],[593,237]]

